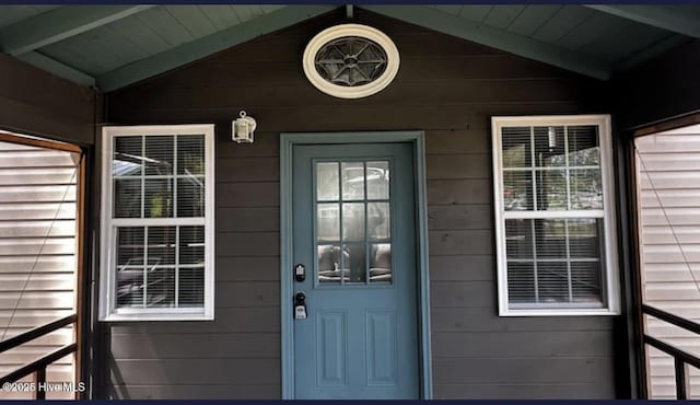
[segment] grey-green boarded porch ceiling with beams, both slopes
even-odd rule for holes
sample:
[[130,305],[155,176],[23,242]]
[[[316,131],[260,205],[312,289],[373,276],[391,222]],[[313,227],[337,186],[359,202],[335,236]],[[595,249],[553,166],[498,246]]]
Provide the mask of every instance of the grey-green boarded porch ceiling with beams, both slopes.
[[[108,92],[338,7],[1,5],[0,50]],[[700,38],[700,5],[362,8],[602,80]]]

